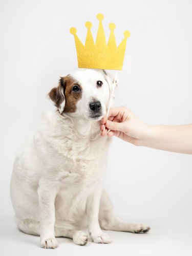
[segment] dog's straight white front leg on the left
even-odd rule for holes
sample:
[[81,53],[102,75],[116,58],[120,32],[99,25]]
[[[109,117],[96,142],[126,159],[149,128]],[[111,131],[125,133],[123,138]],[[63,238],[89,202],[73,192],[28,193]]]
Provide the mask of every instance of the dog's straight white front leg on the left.
[[55,197],[57,190],[45,181],[39,182],[38,199],[40,206],[40,246],[42,248],[56,248],[57,241],[54,234]]

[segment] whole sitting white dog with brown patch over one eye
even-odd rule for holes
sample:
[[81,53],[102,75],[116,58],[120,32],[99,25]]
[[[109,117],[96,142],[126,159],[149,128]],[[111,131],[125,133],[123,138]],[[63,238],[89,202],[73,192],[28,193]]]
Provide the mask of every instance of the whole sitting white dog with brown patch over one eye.
[[56,248],[55,237],[84,245],[88,229],[95,243],[110,243],[101,229],[147,232],[123,223],[102,189],[109,137],[101,137],[112,78],[104,70],[78,70],[61,77],[49,93],[56,111],[42,114],[40,125],[17,154],[11,179],[15,222],[40,235],[40,246]]

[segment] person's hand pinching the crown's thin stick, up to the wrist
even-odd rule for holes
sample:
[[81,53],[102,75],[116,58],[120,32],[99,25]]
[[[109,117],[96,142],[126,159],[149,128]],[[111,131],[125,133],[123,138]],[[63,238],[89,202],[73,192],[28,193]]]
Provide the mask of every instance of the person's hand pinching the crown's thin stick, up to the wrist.
[[[104,127],[105,130],[104,130]],[[106,115],[101,120],[101,136],[116,136],[134,145],[142,145],[143,140],[148,138],[150,125],[138,119],[124,106],[111,108],[109,118]]]

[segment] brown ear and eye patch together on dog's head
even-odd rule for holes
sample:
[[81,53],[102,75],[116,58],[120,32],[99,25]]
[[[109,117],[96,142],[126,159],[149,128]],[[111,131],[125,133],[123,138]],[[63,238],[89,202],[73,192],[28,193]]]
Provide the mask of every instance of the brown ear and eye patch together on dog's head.
[[[78,86],[80,90],[78,92],[73,92],[72,89],[74,86]],[[58,86],[53,88],[49,93],[50,99],[57,106],[60,114],[62,114],[62,112],[75,112],[77,101],[80,100],[81,96],[82,88],[70,75],[61,77]]]

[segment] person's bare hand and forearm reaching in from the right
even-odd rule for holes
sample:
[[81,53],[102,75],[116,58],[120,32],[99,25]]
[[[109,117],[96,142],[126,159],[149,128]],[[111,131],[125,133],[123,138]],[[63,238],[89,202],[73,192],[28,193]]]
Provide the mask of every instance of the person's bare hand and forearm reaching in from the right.
[[192,154],[192,123],[149,125],[121,106],[110,109],[108,120],[102,118],[100,130],[101,136],[116,136],[137,146]]

